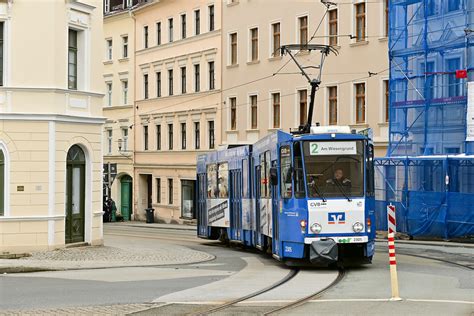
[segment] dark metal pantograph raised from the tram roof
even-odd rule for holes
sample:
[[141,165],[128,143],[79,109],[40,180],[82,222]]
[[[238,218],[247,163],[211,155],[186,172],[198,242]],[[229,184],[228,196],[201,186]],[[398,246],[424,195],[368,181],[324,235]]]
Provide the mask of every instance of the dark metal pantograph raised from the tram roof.
[[[308,83],[311,85],[311,96],[309,102],[309,110],[308,110],[308,121],[305,125],[301,125],[298,128],[298,134],[307,134],[311,131],[311,124],[313,119],[313,110],[314,110],[314,98],[316,96],[316,91],[321,84],[321,75],[323,73],[323,65],[330,53],[337,55],[337,50],[330,46],[330,45],[321,45],[321,44],[290,44],[290,45],[283,45],[280,48],[281,55],[290,55],[291,59],[295,62],[296,66],[301,71],[301,74],[308,80]],[[319,66],[302,66],[295,57],[293,51],[300,52],[302,50],[311,52],[311,51],[319,51],[321,53],[321,62]],[[311,79],[309,74],[305,71],[306,68],[315,68],[319,69],[319,74],[316,78]]]

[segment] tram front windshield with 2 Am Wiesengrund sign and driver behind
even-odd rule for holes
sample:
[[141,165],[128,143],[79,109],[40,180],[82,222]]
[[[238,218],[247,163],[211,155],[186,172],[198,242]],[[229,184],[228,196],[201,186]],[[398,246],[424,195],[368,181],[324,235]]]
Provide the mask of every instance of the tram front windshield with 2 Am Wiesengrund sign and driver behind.
[[308,197],[347,198],[364,195],[362,141],[303,143]]

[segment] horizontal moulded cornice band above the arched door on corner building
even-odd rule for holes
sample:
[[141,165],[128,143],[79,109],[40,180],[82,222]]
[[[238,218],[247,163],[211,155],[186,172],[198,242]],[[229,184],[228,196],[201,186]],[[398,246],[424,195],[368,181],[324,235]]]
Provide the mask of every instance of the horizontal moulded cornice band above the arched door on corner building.
[[98,116],[76,116],[64,114],[42,114],[42,113],[1,113],[1,120],[10,121],[45,121],[59,123],[81,123],[81,124],[104,124],[106,118]]

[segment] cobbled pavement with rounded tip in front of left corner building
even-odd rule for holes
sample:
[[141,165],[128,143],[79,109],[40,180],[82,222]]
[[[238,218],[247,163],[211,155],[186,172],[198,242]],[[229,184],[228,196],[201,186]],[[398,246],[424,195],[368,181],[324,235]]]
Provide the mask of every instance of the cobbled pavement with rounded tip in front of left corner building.
[[0,273],[190,264],[213,255],[163,243],[156,250],[126,247],[78,247],[34,252],[31,257],[0,259]]

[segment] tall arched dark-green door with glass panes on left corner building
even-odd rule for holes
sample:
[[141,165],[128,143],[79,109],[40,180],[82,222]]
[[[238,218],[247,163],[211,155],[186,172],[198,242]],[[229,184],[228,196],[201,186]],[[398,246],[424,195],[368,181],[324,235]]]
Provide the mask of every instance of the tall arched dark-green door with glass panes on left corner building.
[[69,149],[66,167],[66,243],[84,241],[85,168],[82,149]]

